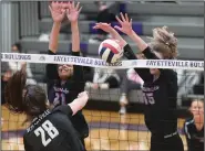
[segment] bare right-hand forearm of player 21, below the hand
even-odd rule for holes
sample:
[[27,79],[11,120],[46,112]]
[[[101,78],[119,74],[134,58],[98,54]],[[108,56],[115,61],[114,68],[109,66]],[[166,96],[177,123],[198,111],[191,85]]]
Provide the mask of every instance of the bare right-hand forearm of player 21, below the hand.
[[80,52],[80,33],[78,21],[71,22],[71,31],[72,31],[72,51]]

